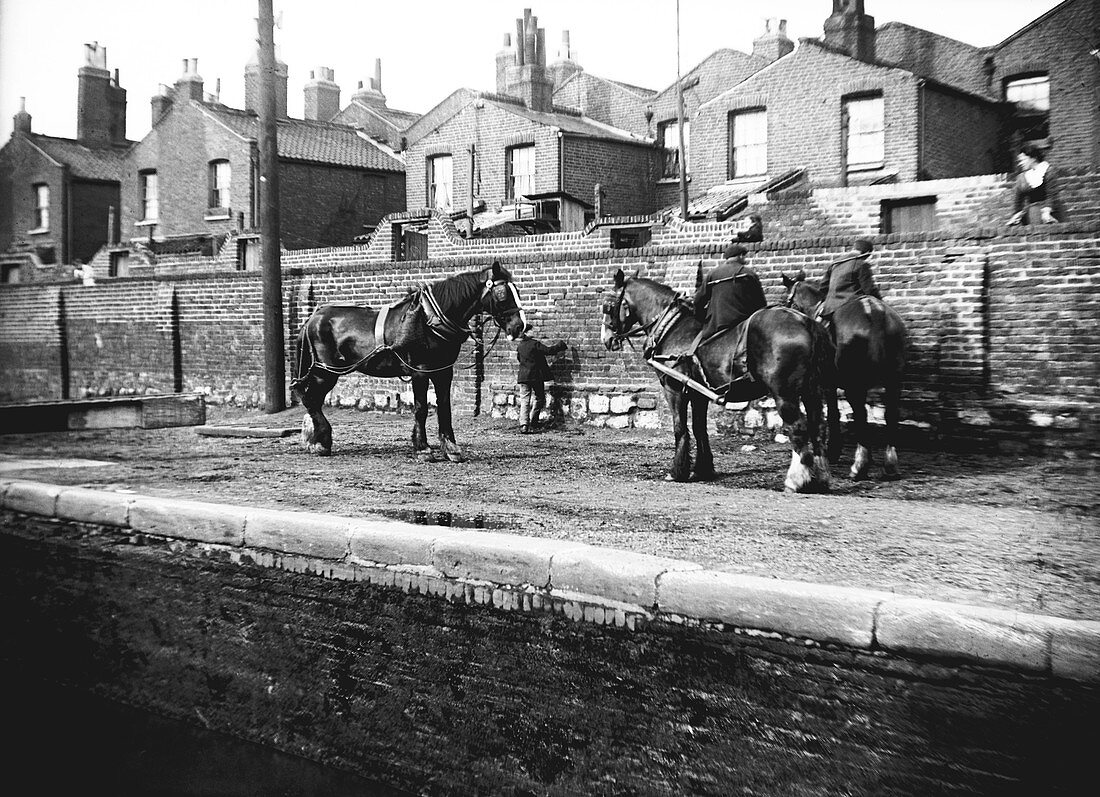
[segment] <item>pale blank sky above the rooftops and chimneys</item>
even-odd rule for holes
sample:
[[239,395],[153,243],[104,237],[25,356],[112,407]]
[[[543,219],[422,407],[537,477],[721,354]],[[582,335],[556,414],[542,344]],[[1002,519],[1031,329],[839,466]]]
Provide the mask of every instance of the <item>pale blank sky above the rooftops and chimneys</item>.
[[[898,21],[986,46],[1059,0],[866,0],[876,24]],[[422,113],[459,88],[495,90],[495,54],[530,8],[546,30],[547,60],[562,31],[586,71],[651,89],[676,76],[675,0],[275,0],[279,58],[289,68],[288,111],[300,117],[302,87],[318,66],[336,69],[341,104],[382,58],[391,108]],[[680,64],[686,73],[722,47],[752,52],[765,18],[788,20],[798,41],[822,35],[831,0],[680,0]],[[107,66],[127,89],[127,135],[150,128],[160,84],[198,58],[207,91],[244,104],[244,65],[255,52],[256,0],[0,0],[0,143],[20,97],[37,133],[76,135],[76,74],[84,43],[107,47]]]

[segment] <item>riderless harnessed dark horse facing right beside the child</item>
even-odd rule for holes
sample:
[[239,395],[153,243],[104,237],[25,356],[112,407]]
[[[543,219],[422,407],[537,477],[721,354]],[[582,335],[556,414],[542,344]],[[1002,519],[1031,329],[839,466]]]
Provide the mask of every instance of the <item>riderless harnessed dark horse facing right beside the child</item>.
[[[321,412],[324,397],[344,374],[407,377],[413,384],[413,449],[435,461],[428,443],[428,383],[436,387],[440,451],[451,462],[463,454],[451,425],[451,383],[462,343],[475,313],[493,318],[509,340],[527,329],[527,317],[512,274],[501,264],[424,283],[388,308],[324,305],[302,324],[290,388],[306,409],[301,440],[310,453],[332,453],[332,427]],[[499,333],[497,333],[499,334]],[[388,346],[395,336],[407,346]]]

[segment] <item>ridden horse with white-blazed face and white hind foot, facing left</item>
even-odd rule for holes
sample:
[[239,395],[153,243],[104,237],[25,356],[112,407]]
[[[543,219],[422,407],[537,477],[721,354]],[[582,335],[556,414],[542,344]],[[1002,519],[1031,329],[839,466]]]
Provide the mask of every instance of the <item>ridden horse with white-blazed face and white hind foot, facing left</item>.
[[[693,358],[676,356],[689,351],[703,326],[683,298],[653,279],[628,278],[622,268],[615,274],[614,290],[617,296],[605,301],[602,308],[601,341],[608,351],[618,351],[624,340],[645,336],[644,354],[658,370],[658,380],[672,412],[675,453],[668,478],[675,481],[686,481],[692,475],[696,480],[714,478],[706,412],[711,400],[721,397],[706,385],[708,379],[723,385],[733,380],[735,335],[714,339],[701,346]],[[828,339],[805,316],[781,307],[758,310],[746,323],[748,373],[755,381],[752,392],[738,396],[737,400],[768,394],[774,398],[791,443],[791,465],[784,479],[787,490],[828,489],[831,477],[822,411],[823,387],[831,384],[833,354]],[[661,359],[674,362],[674,368],[662,366]],[[680,374],[679,378],[669,373],[673,369]],[[726,400],[730,398],[727,396]],[[693,474],[689,407],[691,432],[695,434]]]

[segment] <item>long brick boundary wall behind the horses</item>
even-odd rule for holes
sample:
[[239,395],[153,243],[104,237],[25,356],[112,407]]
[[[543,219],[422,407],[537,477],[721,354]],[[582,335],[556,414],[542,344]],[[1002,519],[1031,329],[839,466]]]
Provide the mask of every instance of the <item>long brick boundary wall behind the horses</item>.
[[[971,178],[955,186],[959,190],[946,192],[958,203],[960,219],[968,213],[974,218],[968,202],[997,207],[1005,201],[1004,192],[996,190],[998,179]],[[820,212],[834,218],[848,215],[850,226],[827,229],[868,234],[868,228],[877,226],[875,215],[882,192],[898,188],[822,189],[814,198]],[[414,217],[399,214],[394,219]],[[569,355],[554,365],[556,395],[564,411],[597,424],[657,425],[667,421],[663,402],[657,400],[657,383],[641,358],[630,352],[608,353],[601,345],[601,300],[618,267],[628,273],[640,269],[683,294],[693,292],[701,269],[717,263],[728,240],[729,223],[654,225],[649,246],[610,250],[606,226],[586,233],[465,241],[446,217],[432,213],[416,218],[428,223],[432,258],[427,262],[392,263],[388,224],[364,246],[286,253],[283,281],[288,358],[294,357],[298,326],[319,305],[350,301],[378,307],[399,299],[420,280],[482,268],[499,259],[517,279],[536,334],[566,340],[571,346]],[[783,299],[782,274],[802,268],[811,277],[820,277],[850,241],[847,234],[811,234],[811,228],[776,239],[769,234],[768,240],[751,246],[750,259],[770,301]],[[1096,365],[1100,362],[1100,333],[1089,325],[1096,318],[1092,292],[1100,279],[1094,225],[1067,223],[1034,232],[972,228],[964,232],[959,224],[955,230],[877,235],[873,240],[879,285],[910,326],[903,409],[908,423],[944,434],[969,430],[988,435],[1000,430],[1036,440],[1048,434],[1079,440],[1094,435],[1100,406]],[[0,326],[4,366],[12,374],[23,369],[38,374],[16,381],[26,386],[20,388],[24,395],[30,385],[48,388],[40,398],[58,397],[61,375],[43,378],[41,375],[50,372],[44,372],[42,364],[59,363],[63,356],[69,359],[76,391],[164,389],[173,372],[152,363],[157,352],[162,362],[166,356],[170,334],[164,331],[168,323],[164,319],[170,299],[155,287],[170,286],[178,313],[176,380],[185,390],[204,392],[215,403],[257,406],[263,395],[260,274],[211,272],[207,263],[206,272],[103,281],[95,288],[58,289],[40,284],[0,289],[0,314],[18,318],[31,312],[35,323],[51,330],[50,336],[31,339],[48,345],[24,351],[26,339],[21,328],[11,323]],[[72,306],[65,322],[67,352],[57,351],[62,337],[56,302],[62,295],[66,307]],[[88,341],[96,340],[97,333],[102,345],[92,347]],[[494,333],[495,326],[488,323],[483,340],[486,346]],[[125,345],[131,335],[133,352]],[[515,379],[514,347],[498,341],[485,356],[483,378],[468,367],[473,365],[472,352],[468,344],[459,364],[458,411],[494,407],[497,413],[514,412],[508,398]],[[407,402],[406,392],[400,383],[356,375],[342,378],[331,400],[364,409],[395,408]],[[763,408],[767,410],[767,405]]]

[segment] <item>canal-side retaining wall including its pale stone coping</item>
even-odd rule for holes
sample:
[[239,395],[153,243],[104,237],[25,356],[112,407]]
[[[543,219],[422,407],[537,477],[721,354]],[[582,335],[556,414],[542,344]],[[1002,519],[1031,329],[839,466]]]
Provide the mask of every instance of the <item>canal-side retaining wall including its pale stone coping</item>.
[[7,672],[425,794],[1077,794],[1100,623],[0,483]]

